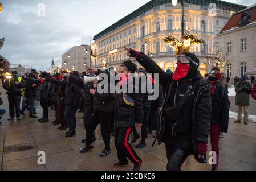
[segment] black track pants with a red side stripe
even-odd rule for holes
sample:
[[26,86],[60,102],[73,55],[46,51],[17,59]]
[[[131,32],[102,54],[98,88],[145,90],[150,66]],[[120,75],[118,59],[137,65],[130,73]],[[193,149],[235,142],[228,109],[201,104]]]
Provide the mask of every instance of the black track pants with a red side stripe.
[[131,127],[115,128],[115,146],[117,150],[117,157],[120,162],[127,163],[128,158],[132,163],[141,165],[141,158],[133,150],[131,144],[128,143],[131,130]]

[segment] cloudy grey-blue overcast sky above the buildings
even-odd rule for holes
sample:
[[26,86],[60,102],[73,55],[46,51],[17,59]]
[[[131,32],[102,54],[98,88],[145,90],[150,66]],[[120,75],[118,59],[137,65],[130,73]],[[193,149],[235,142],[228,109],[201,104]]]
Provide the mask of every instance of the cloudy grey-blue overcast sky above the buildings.
[[[6,36],[0,55],[12,64],[48,70],[72,46],[89,44],[94,36],[149,0],[2,0],[0,38]],[[229,0],[250,6],[256,0]],[[46,16],[38,16],[38,3]]]

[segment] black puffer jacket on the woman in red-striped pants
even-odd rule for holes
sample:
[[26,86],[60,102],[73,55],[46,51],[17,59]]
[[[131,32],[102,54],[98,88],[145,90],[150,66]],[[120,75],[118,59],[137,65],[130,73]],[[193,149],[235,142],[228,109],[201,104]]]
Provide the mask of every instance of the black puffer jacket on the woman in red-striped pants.
[[[98,69],[97,75],[101,73],[105,73],[108,76],[110,76],[109,73]],[[115,75],[116,74],[117,73],[115,73]],[[132,82],[132,80],[129,82]],[[116,84],[118,84],[118,82],[116,82]],[[128,85],[127,85],[127,88],[129,88]],[[137,90],[139,88],[135,88],[135,85],[133,85],[133,89]],[[115,96],[116,98],[115,98],[114,111],[115,111],[115,118],[116,118],[116,127],[133,127],[136,122],[137,123],[143,122],[143,114],[144,114],[143,94],[133,92],[131,94],[127,94],[127,96],[133,99],[135,106],[129,106],[125,104],[125,102],[123,101],[123,93],[116,94]]]

